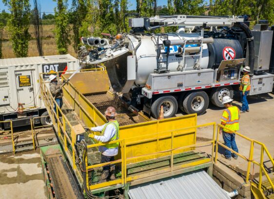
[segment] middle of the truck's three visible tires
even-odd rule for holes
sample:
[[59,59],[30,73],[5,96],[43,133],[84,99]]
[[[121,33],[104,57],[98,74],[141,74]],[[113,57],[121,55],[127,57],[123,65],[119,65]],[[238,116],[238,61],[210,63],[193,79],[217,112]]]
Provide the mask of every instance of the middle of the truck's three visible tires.
[[189,93],[183,101],[183,108],[187,114],[202,115],[208,108],[209,98],[206,92],[197,91]]

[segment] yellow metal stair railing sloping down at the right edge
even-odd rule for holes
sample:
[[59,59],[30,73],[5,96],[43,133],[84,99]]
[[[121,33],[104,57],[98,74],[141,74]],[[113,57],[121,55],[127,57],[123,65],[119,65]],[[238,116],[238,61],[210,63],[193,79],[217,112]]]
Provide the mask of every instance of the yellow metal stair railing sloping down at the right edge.
[[[220,128],[224,128],[224,129],[228,129],[226,127],[224,127],[221,124],[218,124],[218,132],[220,131]],[[228,129],[230,130],[230,129]],[[259,190],[262,190],[262,176],[263,174],[266,176],[268,182],[271,184],[272,189],[274,190],[274,184],[268,174],[268,172],[266,171],[265,167],[264,167],[264,154],[267,155],[267,157],[269,158],[270,162],[272,163],[273,167],[274,167],[274,160],[271,156],[271,154],[269,153],[268,149],[266,148],[265,144],[254,140],[254,139],[250,139],[246,136],[243,136],[242,134],[236,132],[236,131],[232,131],[231,132],[235,133],[235,135],[247,140],[250,142],[250,150],[249,150],[249,157],[245,157],[244,155],[235,152],[233,149],[228,148],[227,146],[225,146],[224,144],[222,144],[221,142],[219,142],[219,133],[217,133],[217,138],[216,138],[216,152],[218,151],[218,145],[222,146],[223,148],[231,151],[232,153],[236,154],[238,157],[246,160],[248,162],[248,166],[247,166],[247,174],[246,174],[246,183],[248,183],[250,181],[250,170],[251,170],[251,163],[254,163],[255,165],[259,166],[259,180],[258,180],[258,185],[257,188]],[[260,160],[259,161],[255,161],[254,160],[254,144],[257,144],[260,147]],[[218,153],[215,153],[215,162],[217,161],[217,155]]]

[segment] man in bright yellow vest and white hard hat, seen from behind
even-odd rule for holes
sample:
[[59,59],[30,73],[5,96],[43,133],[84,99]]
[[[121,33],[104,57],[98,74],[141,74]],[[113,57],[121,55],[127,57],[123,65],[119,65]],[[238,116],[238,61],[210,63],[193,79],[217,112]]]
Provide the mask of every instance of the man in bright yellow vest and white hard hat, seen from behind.
[[[232,105],[232,101],[233,99],[231,99],[229,96],[225,96],[222,99],[222,104],[225,105],[226,109],[224,110],[221,117],[221,125],[228,129],[220,128],[219,133],[223,133],[225,145],[238,153],[238,148],[235,142],[235,133],[232,131],[239,130],[240,110],[238,107]],[[231,160],[231,151],[226,149],[225,155],[222,155],[222,157]],[[238,159],[238,156],[233,154],[233,158]]]

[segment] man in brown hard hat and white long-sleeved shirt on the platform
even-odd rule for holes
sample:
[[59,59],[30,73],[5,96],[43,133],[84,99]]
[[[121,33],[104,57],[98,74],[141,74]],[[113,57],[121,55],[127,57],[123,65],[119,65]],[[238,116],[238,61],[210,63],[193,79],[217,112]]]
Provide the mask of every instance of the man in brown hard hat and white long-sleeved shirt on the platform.
[[[106,119],[108,120],[102,126],[85,128],[85,130],[100,131],[101,136],[89,134],[90,138],[97,139],[100,143],[110,142],[119,139],[119,123],[115,119],[117,116],[114,107],[108,107],[105,111]],[[106,143],[103,146],[99,146],[99,151],[101,152],[101,163],[114,161],[114,156],[118,154],[119,142],[116,143]],[[104,182],[110,173],[110,180],[115,180],[115,165],[107,164],[103,166],[103,172],[101,174],[101,182]]]

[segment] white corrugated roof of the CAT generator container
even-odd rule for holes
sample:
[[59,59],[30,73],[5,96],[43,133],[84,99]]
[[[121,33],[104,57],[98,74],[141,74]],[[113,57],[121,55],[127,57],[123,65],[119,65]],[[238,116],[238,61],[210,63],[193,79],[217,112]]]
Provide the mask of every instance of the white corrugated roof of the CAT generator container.
[[71,55],[53,55],[43,57],[28,57],[28,58],[11,58],[0,59],[0,66],[14,66],[14,65],[33,65],[41,63],[76,61],[77,59]]

